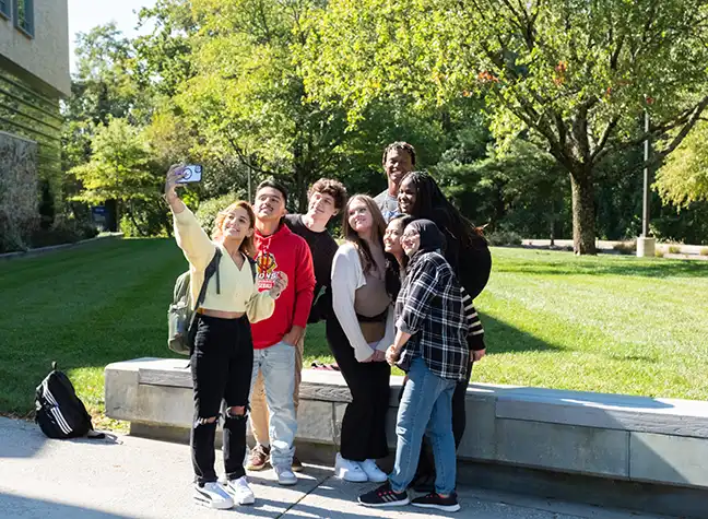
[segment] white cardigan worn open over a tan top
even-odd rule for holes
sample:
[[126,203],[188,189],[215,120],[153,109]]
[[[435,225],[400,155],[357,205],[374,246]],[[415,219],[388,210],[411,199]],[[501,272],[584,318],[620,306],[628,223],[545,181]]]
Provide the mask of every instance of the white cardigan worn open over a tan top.
[[[356,248],[351,243],[341,245],[332,261],[332,307],[358,362],[366,361],[374,354],[374,350],[364,339],[354,310],[356,290],[365,284],[366,278]],[[388,346],[393,344],[396,338],[393,321],[393,305],[391,305],[386,318],[386,334],[379,341],[376,350],[385,352]]]

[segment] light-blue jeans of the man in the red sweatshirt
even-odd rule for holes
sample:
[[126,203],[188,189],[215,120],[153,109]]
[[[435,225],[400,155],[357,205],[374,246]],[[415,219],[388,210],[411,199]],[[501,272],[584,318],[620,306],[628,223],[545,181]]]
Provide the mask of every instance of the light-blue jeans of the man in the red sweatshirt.
[[295,415],[295,346],[279,342],[262,350],[253,350],[253,368],[250,392],[258,378],[263,377],[266,402],[268,403],[270,427],[268,428],[271,445],[271,463],[291,467],[295,455],[295,434],[297,417]]

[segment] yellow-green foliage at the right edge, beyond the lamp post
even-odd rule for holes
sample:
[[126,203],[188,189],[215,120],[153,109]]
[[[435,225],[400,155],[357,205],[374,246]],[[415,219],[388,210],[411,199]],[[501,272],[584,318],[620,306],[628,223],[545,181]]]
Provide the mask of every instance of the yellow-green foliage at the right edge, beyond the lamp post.
[[654,188],[664,202],[687,208],[708,202],[708,122],[700,121],[657,174]]

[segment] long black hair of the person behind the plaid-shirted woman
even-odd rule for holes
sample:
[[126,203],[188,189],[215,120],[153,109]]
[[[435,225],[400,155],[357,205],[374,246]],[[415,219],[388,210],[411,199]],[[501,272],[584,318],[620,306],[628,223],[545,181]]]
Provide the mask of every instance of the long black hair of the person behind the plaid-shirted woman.
[[475,227],[450,203],[430,175],[411,172],[401,179],[401,185],[404,180],[415,186],[415,203],[411,209],[413,217],[432,220],[440,231],[457,239],[462,249],[475,247],[480,240],[486,243],[481,228]]

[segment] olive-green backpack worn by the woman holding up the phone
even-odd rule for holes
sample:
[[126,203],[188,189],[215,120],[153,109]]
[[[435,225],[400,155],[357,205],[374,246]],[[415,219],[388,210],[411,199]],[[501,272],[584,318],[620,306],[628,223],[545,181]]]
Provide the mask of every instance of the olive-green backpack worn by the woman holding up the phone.
[[[221,294],[221,283],[219,279],[219,262],[221,261],[222,251],[219,247],[214,257],[204,269],[204,282],[199,291],[197,302],[191,304],[191,275],[189,271],[182,273],[175,282],[173,292],[173,302],[167,309],[167,347],[173,352],[181,355],[191,355],[194,334],[194,320],[197,318],[197,308],[203,303],[206,296],[206,285],[209,280],[216,274],[216,293]],[[256,261],[246,256],[250,264],[253,282],[256,281]]]

